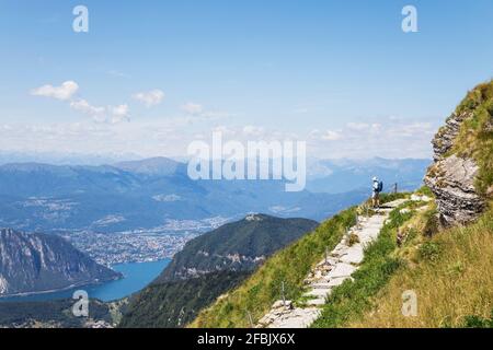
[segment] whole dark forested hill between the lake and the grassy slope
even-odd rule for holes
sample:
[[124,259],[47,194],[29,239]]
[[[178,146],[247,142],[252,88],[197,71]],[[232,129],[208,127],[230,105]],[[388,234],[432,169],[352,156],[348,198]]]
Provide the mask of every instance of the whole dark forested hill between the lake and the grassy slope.
[[249,215],[186,244],[156,281],[130,299],[122,327],[182,327],[276,250],[314,230],[307,219]]

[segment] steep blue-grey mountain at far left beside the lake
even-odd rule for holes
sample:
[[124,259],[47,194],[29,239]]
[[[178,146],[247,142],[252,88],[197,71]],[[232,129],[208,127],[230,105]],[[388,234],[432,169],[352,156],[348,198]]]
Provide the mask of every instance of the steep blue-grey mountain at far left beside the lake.
[[0,230],[0,296],[119,278],[55,235]]

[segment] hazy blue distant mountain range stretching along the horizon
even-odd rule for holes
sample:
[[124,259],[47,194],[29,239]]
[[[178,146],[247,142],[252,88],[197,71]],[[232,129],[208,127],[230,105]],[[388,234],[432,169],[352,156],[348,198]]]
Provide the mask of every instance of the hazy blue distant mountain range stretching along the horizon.
[[368,182],[421,184],[428,161],[317,161],[307,188],[282,180],[192,180],[165,158],[112,165],[11,163],[0,166],[0,225],[28,232],[152,229],[170,220],[239,219],[250,212],[323,220],[360,202]]

